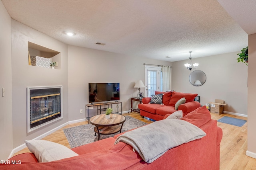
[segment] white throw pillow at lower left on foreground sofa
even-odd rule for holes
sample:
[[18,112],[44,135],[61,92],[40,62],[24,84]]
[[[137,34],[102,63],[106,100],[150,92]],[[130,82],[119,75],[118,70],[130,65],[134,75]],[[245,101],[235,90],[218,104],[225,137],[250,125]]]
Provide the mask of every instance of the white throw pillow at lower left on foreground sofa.
[[58,143],[44,140],[25,141],[28,149],[32,152],[38,162],[50,162],[64,158],[78,156],[76,152]]

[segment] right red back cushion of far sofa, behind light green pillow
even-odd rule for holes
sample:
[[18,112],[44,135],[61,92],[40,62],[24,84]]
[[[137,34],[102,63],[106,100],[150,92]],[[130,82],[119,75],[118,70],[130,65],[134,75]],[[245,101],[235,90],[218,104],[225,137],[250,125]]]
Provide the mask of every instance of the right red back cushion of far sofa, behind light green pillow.
[[186,103],[194,101],[194,98],[198,94],[192,94],[192,93],[180,93],[180,92],[172,92],[172,97],[170,99],[170,102],[168,105],[175,106],[176,102],[180,100],[181,98],[186,99]]

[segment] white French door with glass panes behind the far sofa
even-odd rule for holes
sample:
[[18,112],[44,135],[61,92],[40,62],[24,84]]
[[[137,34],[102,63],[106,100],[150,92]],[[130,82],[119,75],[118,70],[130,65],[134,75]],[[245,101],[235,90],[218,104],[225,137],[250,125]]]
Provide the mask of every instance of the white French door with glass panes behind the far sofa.
[[146,97],[151,97],[155,91],[162,91],[162,67],[145,66]]

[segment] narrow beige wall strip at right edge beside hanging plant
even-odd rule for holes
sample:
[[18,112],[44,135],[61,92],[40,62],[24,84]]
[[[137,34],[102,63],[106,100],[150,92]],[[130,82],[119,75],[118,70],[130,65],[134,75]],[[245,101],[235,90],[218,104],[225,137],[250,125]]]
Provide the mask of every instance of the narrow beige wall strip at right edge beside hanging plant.
[[256,34],[248,37],[248,146],[246,154],[256,158],[256,113],[255,113],[255,96],[256,96]]

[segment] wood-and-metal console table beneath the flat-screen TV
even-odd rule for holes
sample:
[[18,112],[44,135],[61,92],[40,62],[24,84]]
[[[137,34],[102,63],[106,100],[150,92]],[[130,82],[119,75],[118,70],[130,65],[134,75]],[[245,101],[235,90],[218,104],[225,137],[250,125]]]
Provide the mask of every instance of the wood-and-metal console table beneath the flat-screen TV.
[[[117,105],[117,112],[114,112],[114,113],[122,115],[122,102],[115,101],[115,102],[107,102],[107,103],[86,104],[85,105],[85,116],[86,116],[86,119],[88,120],[88,123],[90,121],[89,107],[97,107],[97,115],[98,115],[99,113],[101,114],[102,111],[106,111],[106,109],[110,106],[111,106],[111,108],[113,108],[112,105]],[[121,112],[119,112],[119,105],[121,106]]]

